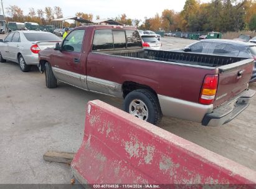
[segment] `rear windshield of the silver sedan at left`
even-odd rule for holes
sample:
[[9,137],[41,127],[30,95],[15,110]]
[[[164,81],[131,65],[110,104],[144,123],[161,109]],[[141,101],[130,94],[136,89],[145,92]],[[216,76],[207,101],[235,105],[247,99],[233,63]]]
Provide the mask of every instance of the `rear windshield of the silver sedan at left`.
[[59,41],[60,38],[50,33],[24,33],[29,41]]

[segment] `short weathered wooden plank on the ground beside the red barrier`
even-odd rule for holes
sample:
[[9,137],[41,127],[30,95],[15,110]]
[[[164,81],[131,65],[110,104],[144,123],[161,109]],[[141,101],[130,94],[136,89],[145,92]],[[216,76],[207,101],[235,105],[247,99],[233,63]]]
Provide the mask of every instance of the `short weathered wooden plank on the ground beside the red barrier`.
[[70,152],[47,151],[43,155],[43,158],[47,162],[71,164],[74,155],[75,153],[70,153]]

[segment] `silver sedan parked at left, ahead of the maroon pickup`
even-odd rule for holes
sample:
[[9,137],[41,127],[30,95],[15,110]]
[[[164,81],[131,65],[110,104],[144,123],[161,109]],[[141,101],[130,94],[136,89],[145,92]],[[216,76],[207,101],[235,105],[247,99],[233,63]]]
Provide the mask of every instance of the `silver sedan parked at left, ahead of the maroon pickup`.
[[19,63],[21,71],[30,71],[31,65],[39,63],[39,51],[55,47],[56,42],[61,42],[61,39],[49,32],[11,32],[4,40],[0,40],[0,62],[10,60]]

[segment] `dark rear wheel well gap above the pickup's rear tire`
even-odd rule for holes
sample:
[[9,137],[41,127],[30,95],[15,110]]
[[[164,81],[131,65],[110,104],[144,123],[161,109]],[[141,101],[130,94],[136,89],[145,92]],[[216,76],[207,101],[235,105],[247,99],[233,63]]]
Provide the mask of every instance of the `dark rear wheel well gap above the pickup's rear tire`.
[[141,89],[145,89],[145,90],[149,90],[151,91],[153,94],[155,94],[156,96],[158,96],[156,94],[156,91],[154,91],[151,87],[147,86],[147,85],[141,85],[140,83],[135,83],[133,81],[125,81],[125,83],[123,83],[122,85],[122,91],[123,91],[123,98],[125,98],[125,96],[130,93],[131,91],[134,90],[141,90]]

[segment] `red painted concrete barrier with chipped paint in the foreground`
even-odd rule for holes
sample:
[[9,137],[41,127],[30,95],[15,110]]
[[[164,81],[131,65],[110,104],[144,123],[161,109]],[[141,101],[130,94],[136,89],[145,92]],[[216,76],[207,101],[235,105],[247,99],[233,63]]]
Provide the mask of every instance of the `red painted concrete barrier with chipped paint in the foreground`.
[[98,100],[71,167],[80,183],[256,186],[253,170]]

